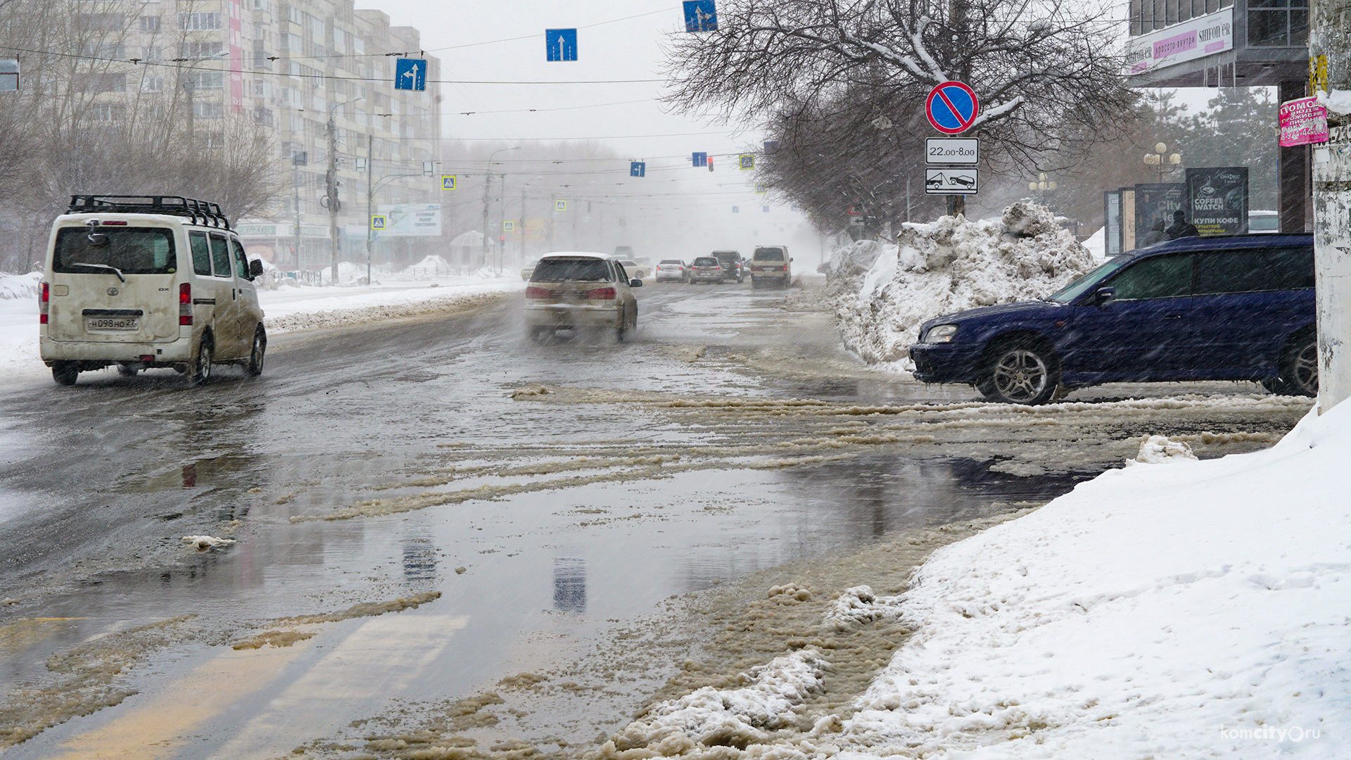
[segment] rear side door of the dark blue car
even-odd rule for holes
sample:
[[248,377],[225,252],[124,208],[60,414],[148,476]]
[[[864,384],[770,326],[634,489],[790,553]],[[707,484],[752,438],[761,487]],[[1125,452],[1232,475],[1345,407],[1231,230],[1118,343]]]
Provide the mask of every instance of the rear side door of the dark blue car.
[[1216,379],[1275,369],[1285,339],[1312,322],[1313,246],[1198,252],[1194,293],[1193,366]]

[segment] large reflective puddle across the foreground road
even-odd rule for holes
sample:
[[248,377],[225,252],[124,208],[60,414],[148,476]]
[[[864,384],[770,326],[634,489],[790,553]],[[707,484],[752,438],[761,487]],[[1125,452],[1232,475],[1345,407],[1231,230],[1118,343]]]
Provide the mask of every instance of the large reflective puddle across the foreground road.
[[[143,723],[136,715],[147,714],[147,705],[172,702],[166,695],[181,688],[174,684],[242,657],[222,644],[240,638],[231,632],[257,629],[258,621],[340,610],[369,600],[372,590],[381,598],[440,591],[442,598],[422,610],[386,615],[389,622],[380,626],[388,629],[385,638],[399,653],[385,655],[393,657],[390,663],[413,656],[424,637],[405,636],[404,629],[436,627],[427,619],[455,621],[454,645],[427,649],[416,667],[389,665],[390,676],[397,672],[393,679],[374,678],[374,671],[349,663],[351,683],[378,683],[380,688],[327,690],[324,710],[307,711],[304,719],[297,715],[290,729],[276,725],[277,705],[301,700],[297,684],[332,683],[322,663],[342,661],[334,659],[334,648],[350,646],[345,642],[359,630],[345,623],[293,644],[301,649],[282,657],[286,678],[240,667],[239,679],[253,680],[234,683],[232,700],[166,723],[180,733],[223,736],[220,721],[228,714],[231,725],[247,726],[239,733],[247,738],[239,748],[284,753],[300,738],[330,736],[347,719],[396,702],[473,694],[511,675],[508,663],[576,653],[603,640],[615,622],[654,610],[671,595],[865,545],[894,530],[990,515],[1016,508],[1016,502],[1043,502],[1077,480],[1032,484],[990,473],[986,464],[878,453],[780,471],[712,469],[657,481],[594,483],[338,523],[289,525],[278,519],[289,514],[286,506],[258,507],[250,519],[266,527],[243,531],[227,550],[190,556],[162,571],[101,575],[46,604],[49,617],[81,618],[62,621],[59,636],[22,634],[23,626],[38,625],[32,622],[0,629],[8,644],[9,683],[42,676],[41,663],[47,657],[97,634],[182,614],[196,615],[195,625],[203,629],[186,655],[180,646],[173,657],[153,657],[161,673],[155,679],[131,679],[145,696],[49,729],[11,752],[38,757],[54,748],[89,746],[100,736],[124,741],[128,726]],[[126,618],[128,610],[136,619]],[[262,649],[265,655],[273,650]],[[651,692],[662,678],[623,686],[632,692],[627,699],[644,688]],[[288,736],[288,730],[300,733]],[[278,740],[276,732],[285,738]]]

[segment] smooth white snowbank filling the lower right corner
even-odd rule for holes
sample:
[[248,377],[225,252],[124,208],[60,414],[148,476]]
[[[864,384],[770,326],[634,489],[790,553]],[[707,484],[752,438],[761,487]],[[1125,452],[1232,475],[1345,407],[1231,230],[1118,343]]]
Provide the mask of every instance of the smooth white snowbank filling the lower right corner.
[[919,633],[840,742],[973,760],[1351,757],[1348,458],[1343,403],[1271,449],[1109,471],[936,550],[905,595]]

